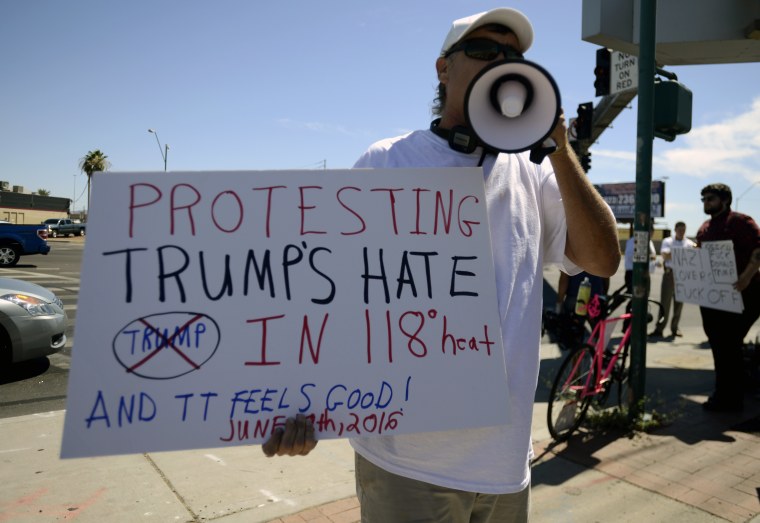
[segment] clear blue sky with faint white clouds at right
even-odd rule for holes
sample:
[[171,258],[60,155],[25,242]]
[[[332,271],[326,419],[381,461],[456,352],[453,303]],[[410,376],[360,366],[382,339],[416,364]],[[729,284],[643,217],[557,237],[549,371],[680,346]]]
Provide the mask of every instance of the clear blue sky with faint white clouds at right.
[[[381,138],[426,127],[451,22],[488,1],[29,0],[0,3],[0,180],[86,205],[79,159],[118,171],[351,167]],[[597,46],[581,1],[521,0],[527,59],[568,117],[594,97]],[[670,67],[693,92],[692,131],[655,140],[666,217],[696,233],[699,189],[721,181],[760,218],[760,67]],[[636,178],[636,100],[592,147],[593,183]],[[752,185],[756,183],[757,185]]]

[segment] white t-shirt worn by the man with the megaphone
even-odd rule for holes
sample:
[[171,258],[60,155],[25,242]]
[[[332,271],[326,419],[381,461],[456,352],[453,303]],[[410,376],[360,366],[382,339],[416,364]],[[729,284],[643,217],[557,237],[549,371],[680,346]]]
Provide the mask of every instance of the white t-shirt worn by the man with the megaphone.
[[[469,155],[453,151],[426,130],[373,144],[354,167],[474,167],[479,159],[480,149]],[[509,397],[504,401],[509,402],[511,422],[355,438],[351,445],[394,474],[469,492],[502,494],[519,492],[530,483],[543,264],[562,264],[570,274],[579,269],[564,257],[565,214],[549,162],[535,165],[527,153],[489,155],[483,170],[506,355]]]

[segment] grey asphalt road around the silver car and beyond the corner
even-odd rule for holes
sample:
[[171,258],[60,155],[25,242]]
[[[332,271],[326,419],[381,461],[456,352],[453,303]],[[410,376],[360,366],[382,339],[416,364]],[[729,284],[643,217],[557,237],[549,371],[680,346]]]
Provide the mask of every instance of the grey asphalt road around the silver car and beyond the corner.
[[[74,343],[74,325],[79,299],[80,266],[85,238],[50,239],[51,252],[47,256],[28,256],[21,259],[16,267],[0,269],[0,276],[31,281],[53,290],[64,303],[69,317],[66,331],[68,341],[59,353],[41,360],[19,364],[9,375],[0,376],[0,418],[22,416],[38,412],[66,408],[71,351]],[[618,274],[610,282],[610,290],[623,283],[622,263]],[[544,300],[554,303],[554,289],[559,273],[556,269],[544,272]],[[651,277],[653,299],[659,298],[662,269]],[[686,304],[681,318],[682,327],[701,325],[699,308]],[[649,330],[652,327],[650,325]],[[545,340],[546,341],[546,340]]]

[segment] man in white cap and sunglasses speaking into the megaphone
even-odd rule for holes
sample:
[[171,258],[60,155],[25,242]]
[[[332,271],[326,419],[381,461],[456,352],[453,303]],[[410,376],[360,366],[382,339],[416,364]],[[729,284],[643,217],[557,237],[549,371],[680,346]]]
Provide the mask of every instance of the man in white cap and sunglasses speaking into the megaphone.
[[[479,142],[464,151],[446,138],[477,140],[465,117],[468,87],[495,61],[521,59],[532,41],[530,21],[513,9],[456,20],[435,61],[433,112],[439,119],[428,129],[373,144],[355,165],[482,166],[509,390],[504,408],[511,413],[508,425],[352,439],[364,522],[527,521],[542,267],[558,264],[569,274],[609,277],[620,262],[615,218],[568,146],[561,111],[556,126],[547,129],[556,150],[541,164],[531,162],[527,151],[498,153]],[[474,379],[463,376],[462,385]],[[263,450],[307,453],[309,430],[306,420],[293,420]]]

